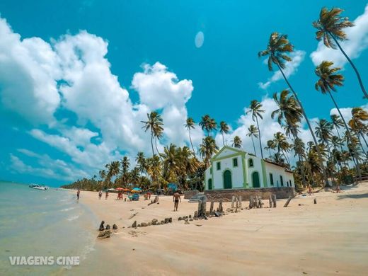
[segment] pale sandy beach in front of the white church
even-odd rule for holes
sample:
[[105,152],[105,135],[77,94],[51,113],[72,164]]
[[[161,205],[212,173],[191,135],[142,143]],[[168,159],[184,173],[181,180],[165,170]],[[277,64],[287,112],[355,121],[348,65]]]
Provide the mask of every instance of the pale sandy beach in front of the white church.
[[[192,215],[197,203],[183,197],[178,212],[173,212],[172,197],[160,196],[159,205],[150,206],[142,197],[138,202],[115,198],[110,193],[108,200],[104,195],[98,200],[98,192],[81,191],[79,201],[118,230],[97,240],[96,255],[76,270],[85,265],[105,275],[362,275],[368,270],[368,183],[340,193],[297,196],[286,208],[286,200],[277,200],[272,209],[246,210],[248,202],[243,202],[241,212],[190,224],[178,217]],[[224,203],[224,210],[230,205]],[[165,217],[173,223],[128,228],[134,220]]]

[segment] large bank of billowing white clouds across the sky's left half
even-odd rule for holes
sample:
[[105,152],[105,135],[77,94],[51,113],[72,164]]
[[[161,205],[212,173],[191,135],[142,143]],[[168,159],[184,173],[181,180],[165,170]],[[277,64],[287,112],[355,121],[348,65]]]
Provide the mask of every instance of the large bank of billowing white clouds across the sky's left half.
[[[122,154],[150,155],[149,133],[144,133],[141,121],[152,110],[162,114],[165,144],[188,144],[183,125],[192,81],[179,80],[160,62],[144,64],[142,72],[134,74],[132,88],[139,103],[133,104],[110,71],[105,58],[108,42],[103,38],[81,31],[51,42],[22,40],[4,19],[0,19],[0,38],[0,108],[33,123],[28,132],[32,137],[67,154],[85,171],[103,168]],[[68,122],[70,117],[57,119],[56,110],[74,113],[76,124]],[[40,128],[44,125],[48,129]],[[196,128],[192,134],[198,144],[202,130]],[[22,168],[15,157],[13,164]],[[28,169],[23,166],[23,171]]]

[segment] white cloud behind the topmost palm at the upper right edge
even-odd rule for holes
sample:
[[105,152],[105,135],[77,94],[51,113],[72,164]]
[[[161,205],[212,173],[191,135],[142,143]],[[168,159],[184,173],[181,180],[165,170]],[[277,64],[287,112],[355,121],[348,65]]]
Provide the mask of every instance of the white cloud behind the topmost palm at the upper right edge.
[[[359,57],[361,52],[368,47],[368,5],[354,23],[354,27],[345,29],[349,40],[340,42],[341,47],[351,59]],[[332,61],[338,67],[343,67],[347,62],[340,50],[330,49],[323,45],[322,41],[318,42],[317,50],[312,52],[310,57],[316,66],[323,60]]]

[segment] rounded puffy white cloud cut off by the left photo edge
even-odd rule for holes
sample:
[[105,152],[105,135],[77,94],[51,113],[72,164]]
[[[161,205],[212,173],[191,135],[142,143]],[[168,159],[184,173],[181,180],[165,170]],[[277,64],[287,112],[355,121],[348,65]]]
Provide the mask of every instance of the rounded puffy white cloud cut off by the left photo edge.
[[53,121],[60,97],[57,54],[40,38],[21,40],[0,18],[1,103],[30,122]]

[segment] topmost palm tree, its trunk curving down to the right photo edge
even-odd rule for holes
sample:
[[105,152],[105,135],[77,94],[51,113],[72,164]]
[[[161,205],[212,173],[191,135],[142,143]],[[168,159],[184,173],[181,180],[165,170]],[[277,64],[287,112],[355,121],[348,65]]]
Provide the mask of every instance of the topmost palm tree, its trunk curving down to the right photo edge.
[[342,12],[343,10],[341,8],[331,8],[330,11],[328,11],[328,8],[326,7],[321,9],[318,20],[314,21],[313,23],[314,28],[317,29],[316,40],[321,41],[323,39],[323,44],[326,45],[326,47],[337,49],[337,46],[340,49],[347,61],[352,66],[352,69],[354,69],[355,74],[357,74],[364,98],[368,98],[368,94],[365,91],[357,67],[355,67],[355,65],[352,63],[352,60],[347,56],[338,42],[338,40],[347,40],[347,35],[344,32],[344,29],[354,26],[354,23],[350,22],[347,17],[340,16]]

